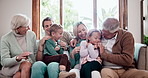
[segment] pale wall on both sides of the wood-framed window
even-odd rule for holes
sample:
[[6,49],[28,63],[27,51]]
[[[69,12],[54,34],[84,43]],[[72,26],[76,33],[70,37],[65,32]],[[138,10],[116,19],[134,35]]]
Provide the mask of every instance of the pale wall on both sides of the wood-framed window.
[[[128,1],[128,28],[135,41],[141,42],[140,0]],[[10,31],[10,20],[16,13],[32,17],[32,0],[0,0],[0,37]]]

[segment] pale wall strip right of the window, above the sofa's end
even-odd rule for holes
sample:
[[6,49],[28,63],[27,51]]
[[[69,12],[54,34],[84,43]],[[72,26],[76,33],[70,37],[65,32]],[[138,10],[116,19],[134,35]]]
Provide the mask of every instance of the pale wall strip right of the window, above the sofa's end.
[[135,42],[141,42],[140,0],[128,1],[128,30],[133,33]]

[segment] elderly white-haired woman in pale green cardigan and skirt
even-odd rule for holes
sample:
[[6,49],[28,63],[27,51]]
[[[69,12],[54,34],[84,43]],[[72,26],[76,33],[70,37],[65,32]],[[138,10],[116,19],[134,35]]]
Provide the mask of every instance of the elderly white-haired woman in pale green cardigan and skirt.
[[12,31],[1,39],[2,74],[13,78],[30,78],[30,68],[37,51],[36,35],[29,31],[30,19],[23,14],[13,16]]

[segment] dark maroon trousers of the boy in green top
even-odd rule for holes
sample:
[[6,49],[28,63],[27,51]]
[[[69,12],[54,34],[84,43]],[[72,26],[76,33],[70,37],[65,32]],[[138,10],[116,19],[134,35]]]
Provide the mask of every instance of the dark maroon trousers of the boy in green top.
[[64,65],[66,67],[66,71],[70,70],[70,62],[66,54],[59,54],[59,55],[47,55],[45,54],[43,57],[43,62],[48,65],[51,62],[58,62],[59,65]]

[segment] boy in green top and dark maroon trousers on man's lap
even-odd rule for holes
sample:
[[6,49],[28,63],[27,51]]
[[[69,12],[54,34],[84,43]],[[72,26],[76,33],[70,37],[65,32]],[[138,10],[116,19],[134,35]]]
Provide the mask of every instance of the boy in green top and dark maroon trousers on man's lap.
[[66,54],[63,54],[63,49],[58,44],[58,40],[62,37],[63,28],[60,25],[53,24],[49,28],[51,39],[45,42],[43,62],[49,64],[51,62],[58,62],[60,68],[59,78],[75,78],[76,74],[73,72],[66,72],[70,70],[70,62]]

